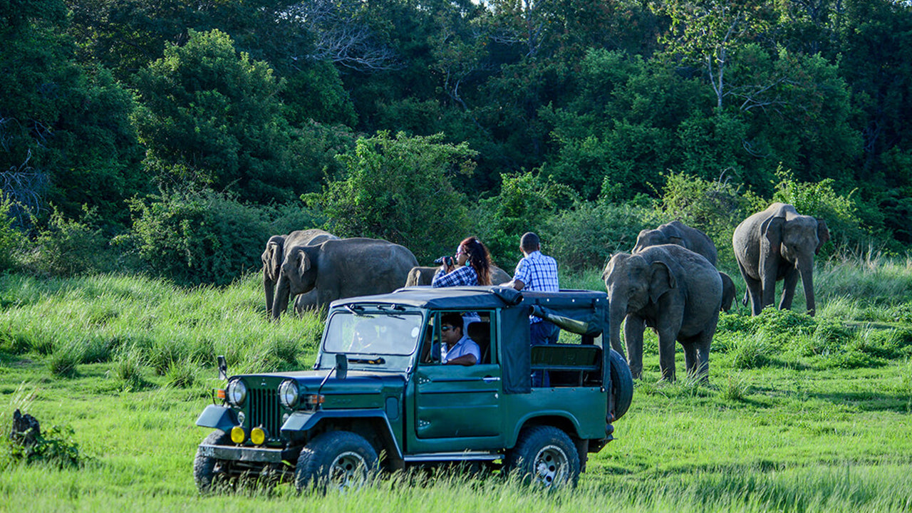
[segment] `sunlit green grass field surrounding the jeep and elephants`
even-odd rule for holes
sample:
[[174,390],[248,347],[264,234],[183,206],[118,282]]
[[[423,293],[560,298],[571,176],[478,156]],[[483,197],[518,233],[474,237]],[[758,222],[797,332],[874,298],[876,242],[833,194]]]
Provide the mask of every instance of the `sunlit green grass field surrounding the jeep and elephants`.
[[[596,271],[562,280],[601,288]],[[283,485],[201,497],[192,459],[207,432],[194,422],[221,384],[214,356],[230,372],[309,368],[319,320],[266,321],[255,277],[221,289],[0,277],[0,427],[19,407],[45,429],[71,429],[58,436],[81,461],[16,463],[4,442],[0,510],[912,510],[912,264],[830,262],[815,285],[814,319],[798,298],[795,312],[723,315],[708,386],[657,383],[648,337],[617,440],[575,490],[529,493],[451,470],[347,495]]]

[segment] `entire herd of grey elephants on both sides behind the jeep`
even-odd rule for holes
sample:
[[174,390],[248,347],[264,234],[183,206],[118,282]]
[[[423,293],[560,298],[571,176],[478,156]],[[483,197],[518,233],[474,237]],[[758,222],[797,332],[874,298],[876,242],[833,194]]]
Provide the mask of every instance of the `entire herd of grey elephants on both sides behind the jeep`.
[[[751,215],[731,238],[741,277],[743,303],[757,315],[772,305],[776,281],[783,280],[780,309],[790,309],[801,277],[805,303],[814,315],[814,255],[830,238],[823,219],[799,215],[791,204],[775,203]],[[609,298],[611,347],[621,354],[621,321],[627,361],[635,378],[643,372],[643,332],[658,334],[663,380],[675,380],[675,341],[684,347],[690,376],[709,379],[710,343],[720,310],[735,298],[731,277],[716,269],[709,236],[679,221],[643,230],[631,253],[608,261],[602,278]],[[420,267],[404,246],[371,238],[339,238],[326,231],[299,230],[272,236],[262,256],[266,310],[277,319],[295,298],[295,311],[321,309],[337,298],[430,285],[437,267]],[[510,281],[492,267],[492,283]]]

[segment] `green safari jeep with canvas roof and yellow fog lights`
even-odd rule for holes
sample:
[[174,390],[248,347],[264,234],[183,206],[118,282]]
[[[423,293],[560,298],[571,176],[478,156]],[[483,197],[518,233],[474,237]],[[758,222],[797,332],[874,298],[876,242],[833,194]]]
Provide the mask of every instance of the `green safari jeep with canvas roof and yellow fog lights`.
[[[461,314],[482,358],[443,365],[440,319]],[[530,347],[530,316],[561,328]],[[254,477],[357,487],[379,469],[468,462],[545,487],[574,485],[630,405],[627,362],[607,348],[604,292],[412,287],[330,306],[313,371],[243,374],[196,424],[214,429],[197,487]],[[220,372],[224,375],[223,360]],[[547,374],[533,387],[533,372]],[[382,455],[382,457],[380,457]]]

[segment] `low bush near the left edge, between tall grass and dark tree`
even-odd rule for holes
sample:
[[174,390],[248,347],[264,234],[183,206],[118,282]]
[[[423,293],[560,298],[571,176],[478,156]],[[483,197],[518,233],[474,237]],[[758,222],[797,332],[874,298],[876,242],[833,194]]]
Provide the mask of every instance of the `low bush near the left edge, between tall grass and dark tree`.
[[34,242],[24,252],[22,267],[44,277],[110,270],[114,256],[99,222],[94,208],[84,208],[80,219],[67,219],[52,206],[47,227],[38,229]]

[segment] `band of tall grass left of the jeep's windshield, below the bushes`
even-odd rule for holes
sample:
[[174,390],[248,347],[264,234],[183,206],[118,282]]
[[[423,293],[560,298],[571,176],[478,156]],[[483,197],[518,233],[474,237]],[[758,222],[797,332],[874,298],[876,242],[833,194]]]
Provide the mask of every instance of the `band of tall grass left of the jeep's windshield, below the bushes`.
[[165,375],[188,362],[212,365],[223,354],[245,370],[294,368],[316,352],[322,322],[287,315],[271,322],[253,276],[226,288],[178,288],[143,277],[69,280],[5,276],[0,351],[52,355],[57,375],[78,364],[131,354]]

